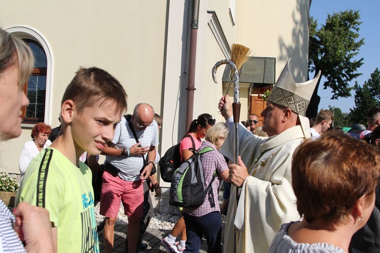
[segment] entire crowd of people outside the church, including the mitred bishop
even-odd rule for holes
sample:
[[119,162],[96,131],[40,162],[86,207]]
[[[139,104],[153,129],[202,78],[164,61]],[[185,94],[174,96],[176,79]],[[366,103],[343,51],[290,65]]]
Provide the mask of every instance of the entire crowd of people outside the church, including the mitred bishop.
[[[0,114],[7,118],[1,141],[21,134],[21,110],[28,105],[23,86],[32,64],[23,41],[0,29]],[[261,112],[262,125],[248,115],[239,139],[231,131],[228,95],[218,104],[225,122],[207,113],[193,120],[179,152],[185,161],[194,150],[211,148],[200,156],[206,198],[182,209],[161,241],[167,251],[199,252],[204,236],[208,252],[221,252],[221,213],[227,216],[224,252],[380,251],[380,109],[368,110],[364,141],[327,131],[334,120],[329,110],[311,125],[305,113],[319,75],[295,83],[289,60]],[[95,172],[102,178],[105,251],[113,248],[120,203],[128,216],[126,252],[147,247],[150,191],[161,196],[156,164],[163,119],[146,103],[132,114],[126,110],[127,94],[115,77],[96,67],[75,73],[63,94],[61,125],[52,130],[37,123],[22,148],[13,214],[0,200],[4,252],[99,252]],[[236,142],[238,164],[231,162]],[[220,207],[222,182],[226,201]]]

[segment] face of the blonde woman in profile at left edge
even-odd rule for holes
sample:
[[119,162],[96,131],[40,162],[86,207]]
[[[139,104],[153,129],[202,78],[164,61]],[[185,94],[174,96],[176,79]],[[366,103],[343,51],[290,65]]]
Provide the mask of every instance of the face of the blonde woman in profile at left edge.
[[0,73],[0,141],[21,135],[21,108],[29,104],[25,93],[18,86],[18,63]]

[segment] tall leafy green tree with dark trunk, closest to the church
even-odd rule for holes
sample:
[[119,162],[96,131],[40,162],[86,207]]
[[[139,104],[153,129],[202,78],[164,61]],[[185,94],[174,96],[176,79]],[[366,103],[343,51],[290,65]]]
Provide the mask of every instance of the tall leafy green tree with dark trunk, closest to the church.
[[[363,38],[358,40],[359,26],[362,23],[359,19],[359,11],[353,10],[328,14],[326,23],[318,29],[317,20],[310,18],[309,72],[314,72],[316,77],[321,70],[321,77],[327,79],[323,83],[324,89],[332,89],[331,99],[350,97],[354,88],[350,87],[349,82],[361,75],[357,69],[363,64],[363,58],[354,60],[364,44]],[[315,117],[318,113],[321,77],[308,107],[308,117]]]

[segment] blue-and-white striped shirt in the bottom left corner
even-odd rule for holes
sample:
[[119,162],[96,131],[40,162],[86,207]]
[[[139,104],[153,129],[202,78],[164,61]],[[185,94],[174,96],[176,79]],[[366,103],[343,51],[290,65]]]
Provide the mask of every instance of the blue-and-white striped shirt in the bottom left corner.
[[21,240],[13,230],[15,217],[0,199],[0,252],[26,252]]

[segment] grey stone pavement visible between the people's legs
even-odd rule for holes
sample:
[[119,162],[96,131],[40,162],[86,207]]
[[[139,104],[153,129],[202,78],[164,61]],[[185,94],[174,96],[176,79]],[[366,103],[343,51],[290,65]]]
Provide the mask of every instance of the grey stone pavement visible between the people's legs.
[[[127,237],[127,227],[128,225],[115,224],[115,240],[113,243],[113,252],[124,252],[125,249],[125,239]],[[99,248],[100,252],[105,252],[104,243],[103,243],[103,231],[99,231]],[[156,228],[147,228],[142,238],[143,242],[148,244],[146,249],[141,249],[141,253],[150,252],[150,253],[158,253],[158,252],[167,252],[164,246],[161,245],[160,241],[164,238],[171,230],[163,230]],[[221,235],[222,241],[224,238],[224,229],[222,229]],[[179,240],[179,237],[178,239]],[[201,250],[199,252],[205,253],[207,252],[207,243],[203,238],[201,244]]]

